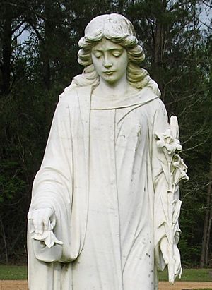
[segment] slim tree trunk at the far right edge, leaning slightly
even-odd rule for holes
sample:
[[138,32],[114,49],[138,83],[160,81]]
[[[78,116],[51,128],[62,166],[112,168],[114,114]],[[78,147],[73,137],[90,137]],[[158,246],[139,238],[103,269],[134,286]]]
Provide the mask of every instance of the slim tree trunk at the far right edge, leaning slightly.
[[210,236],[211,236],[211,218],[212,218],[212,210],[211,206],[211,182],[212,182],[212,152],[211,152],[211,161],[210,161],[210,169],[209,169],[209,181],[208,181],[208,191],[207,191],[207,202],[206,202],[206,215],[204,221],[204,233],[201,243],[201,258],[199,266],[202,268],[208,265],[209,260],[209,244],[210,244]]

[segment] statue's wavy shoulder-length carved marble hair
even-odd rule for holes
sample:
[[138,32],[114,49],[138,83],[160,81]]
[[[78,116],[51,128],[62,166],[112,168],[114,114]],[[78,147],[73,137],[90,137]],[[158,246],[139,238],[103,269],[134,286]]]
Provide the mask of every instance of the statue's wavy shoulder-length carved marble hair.
[[73,78],[71,87],[98,85],[100,80],[93,66],[91,50],[103,37],[126,49],[129,59],[126,72],[129,84],[137,89],[151,87],[153,92],[160,96],[158,84],[151,79],[148,71],[139,66],[145,59],[145,54],[141,45],[138,44],[134,26],[124,16],[116,13],[95,17],[88,23],[85,36],[78,42],[81,48],[78,52],[78,63],[85,68],[81,75]]

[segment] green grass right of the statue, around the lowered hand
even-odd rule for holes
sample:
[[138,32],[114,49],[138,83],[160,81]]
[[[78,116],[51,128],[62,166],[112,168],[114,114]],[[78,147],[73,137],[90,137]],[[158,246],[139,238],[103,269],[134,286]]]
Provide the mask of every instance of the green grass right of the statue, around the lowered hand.
[[[159,273],[160,281],[167,281],[167,270]],[[192,282],[212,282],[211,269],[184,269],[182,278],[177,281],[192,281]]]

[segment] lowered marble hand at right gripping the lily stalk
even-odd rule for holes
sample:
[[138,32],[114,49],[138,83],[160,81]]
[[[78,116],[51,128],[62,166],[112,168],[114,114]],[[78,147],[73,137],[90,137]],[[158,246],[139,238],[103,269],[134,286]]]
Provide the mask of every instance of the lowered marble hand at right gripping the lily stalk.
[[179,249],[177,248],[177,245],[173,245],[173,256],[171,257],[170,253],[170,246],[167,240],[167,237],[163,237],[160,241],[160,250],[163,255],[163,259],[165,261],[165,264],[168,265],[171,261],[170,259],[173,259],[175,262],[175,278],[179,277],[181,278],[182,274],[182,267],[181,267],[181,260],[180,260],[180,253]]

